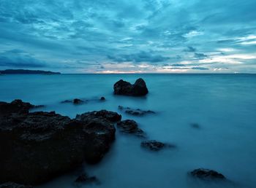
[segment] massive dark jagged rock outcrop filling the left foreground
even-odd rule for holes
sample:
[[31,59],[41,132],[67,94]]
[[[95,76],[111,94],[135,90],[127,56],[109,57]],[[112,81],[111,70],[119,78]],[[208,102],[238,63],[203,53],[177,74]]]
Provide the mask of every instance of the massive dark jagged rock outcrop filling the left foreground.
[[54,111],[29,113],[29,107],[0,103],[0,183],[40,184],[84,161],[98,162],[115,139],[114,122],[121,120],[105,110],[71,120]]

